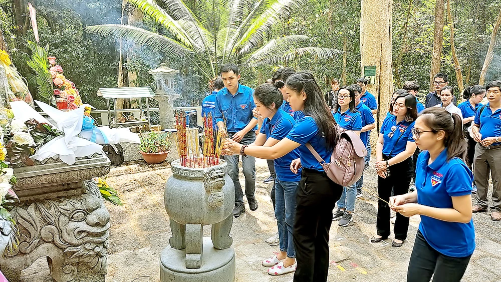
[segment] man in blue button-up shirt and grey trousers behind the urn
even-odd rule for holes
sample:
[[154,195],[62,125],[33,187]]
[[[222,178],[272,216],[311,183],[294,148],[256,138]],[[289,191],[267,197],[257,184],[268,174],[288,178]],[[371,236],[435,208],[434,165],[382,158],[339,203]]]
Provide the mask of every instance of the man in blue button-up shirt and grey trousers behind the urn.
[[[224,64],[221,67],[221,78],[224,88],[217,92],[214,103],[217,127],[225,130],[229,138],[243,145],[256,140],[258,119],[253,115],[254,90],[238,83],[240,74],[235,64]],[[233,216],[238,217],[245,212],[243,192],[238,179],[239,155],[224,156],[228,162],[228,175],[235,185],[235,207]],[[254,196],[256,190],[256,161],[254,157],[242,155],[242,170],[245,176],[245,197],[250,210],[258,209]]]

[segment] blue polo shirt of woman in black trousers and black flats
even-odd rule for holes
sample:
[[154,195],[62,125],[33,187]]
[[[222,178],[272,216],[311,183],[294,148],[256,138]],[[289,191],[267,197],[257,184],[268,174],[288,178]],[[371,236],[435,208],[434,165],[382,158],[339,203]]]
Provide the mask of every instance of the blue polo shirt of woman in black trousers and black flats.
[[[392,131],[392,127],[395,127],[395,130],[393,132],[393,136],[390,138],[388,134],[390,134],[390,132]],[[389,155],[391,152],[390,157],[394,157],[405,151],[407,142],[414,142],[411,132],[413,127],[414,122],[408,122],[404,120],[399,122],[397,125],[396,116],[386,117],[383,121],[383,125],[381,126],[381,130],[379,131],[380,134],[383,134],[383,154]],[[402,134],[402,137],[398,139],[400,134]]]

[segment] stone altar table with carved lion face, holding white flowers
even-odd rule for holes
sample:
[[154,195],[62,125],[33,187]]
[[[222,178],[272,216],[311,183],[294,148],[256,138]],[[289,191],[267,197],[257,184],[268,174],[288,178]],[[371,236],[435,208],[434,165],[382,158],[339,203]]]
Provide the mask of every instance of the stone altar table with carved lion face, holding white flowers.
[[21,202],[12,210],[20,232],[19,248],[6,250],[0,268],[9,281],[47,257],[57,282],[104,282],[110,214],[93,177],[104,176],[105,155],[15,168]]

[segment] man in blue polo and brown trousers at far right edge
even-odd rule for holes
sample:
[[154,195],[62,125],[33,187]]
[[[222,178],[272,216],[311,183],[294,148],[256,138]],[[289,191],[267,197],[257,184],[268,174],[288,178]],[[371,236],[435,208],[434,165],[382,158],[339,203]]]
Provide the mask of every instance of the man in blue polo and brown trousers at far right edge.
[[476,111],[471,132],[477,142],[473,171],[475,176],[476,205],[473,212],[487,211],[489,172],[492,175],[492,203],[490,219],[501,220],[501,81],[495,80],[485,87],[487,105]]

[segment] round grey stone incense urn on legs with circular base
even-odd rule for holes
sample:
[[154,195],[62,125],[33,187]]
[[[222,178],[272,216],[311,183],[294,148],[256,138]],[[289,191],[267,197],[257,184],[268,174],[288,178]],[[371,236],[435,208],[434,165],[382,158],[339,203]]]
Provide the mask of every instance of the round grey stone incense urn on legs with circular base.
[[[235,255],[229,232],[235,190],[225,173],[227,163],[188,168],[175,160],[171,167],[164,200],[172,237],[160,255],[160,281],[232,282]],[[209,224],[211,236],[203,238],[203,225]]]

